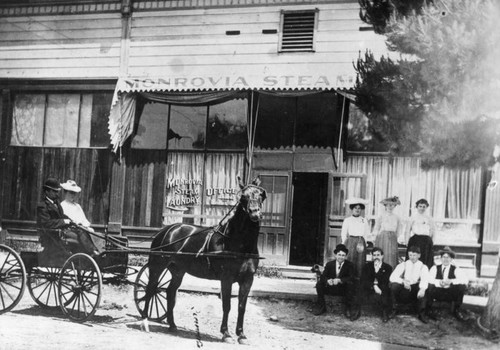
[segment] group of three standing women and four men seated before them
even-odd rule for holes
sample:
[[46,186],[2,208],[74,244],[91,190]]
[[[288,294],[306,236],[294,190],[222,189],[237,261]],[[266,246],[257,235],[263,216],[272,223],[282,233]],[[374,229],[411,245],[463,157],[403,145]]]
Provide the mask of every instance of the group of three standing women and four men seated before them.
[[379,306],[382,321],[396,315],[396,306],[412,304],[420,321],[436,319],[433,302],[451,302],[452,313],[463,320],[460,311],[468,283],[462,270],[452,263],[455,252],[449,247],[439,251],[441,264],[434,265],[432,236],[434,223],[425,211],[425,199],[416,202],[417,213],[410,219],[410,234],[406,260],[398,263],[398,237],[402,221],[393,213],[400,204],[397,197],[384,199],[385,212],[375,223],[375,244],[372,260],[367,262],[366,237],[370,225],[361,213],[366,200],[352,198],[346,201],[352,215],[344,220],[341,238],[343,244],[334,250],[335,259],[328,262],[318,278],[317,305],[313,313],[326,312],[325,295],[343,297],[343,313],[352,321],[361,316],[361,300],[371,300]]

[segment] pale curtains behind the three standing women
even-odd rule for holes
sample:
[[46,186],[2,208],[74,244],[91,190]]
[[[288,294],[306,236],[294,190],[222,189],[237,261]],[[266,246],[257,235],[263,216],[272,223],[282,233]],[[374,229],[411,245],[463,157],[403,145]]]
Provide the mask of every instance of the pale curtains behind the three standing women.
[[346,172],[367,174],[367,199],[371,208],[368,216],[383,210],[379,202],[388,196],[398,196],[401,206],[395,213],[408,217],[415,202],[429,201],[429,214],[435,218],[478,219],[481,203],[480,168],[452,170],[447,168],[424,171],[420,159],[398,157],[350,157]]

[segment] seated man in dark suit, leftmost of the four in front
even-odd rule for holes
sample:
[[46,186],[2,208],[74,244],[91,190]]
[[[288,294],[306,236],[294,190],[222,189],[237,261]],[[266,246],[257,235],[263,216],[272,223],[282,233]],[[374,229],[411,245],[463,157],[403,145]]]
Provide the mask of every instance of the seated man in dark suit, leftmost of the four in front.
[[316,283],[318,302],[313,310],[315,315],[326,312],[325,295],[343,297],[344,314],[352,321],[360,316],[359,307],[355,305],[356,274],[354,264],[346,260],[349,252],[345,245],[339,244],[333,251],[335,260],[329,261]]

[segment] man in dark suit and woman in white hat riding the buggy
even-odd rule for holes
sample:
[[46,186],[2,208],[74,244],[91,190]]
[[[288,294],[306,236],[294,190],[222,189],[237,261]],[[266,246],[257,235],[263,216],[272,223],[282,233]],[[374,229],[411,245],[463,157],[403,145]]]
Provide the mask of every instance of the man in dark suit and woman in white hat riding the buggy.
[[[61,189],[63,200],[61,201]],[[82,207],[76,202],[81,188],[73,180],[59,183],[48,178],[43,185],[43,198],[37,205],[37,226],[40,243],[47,256],[57,256],[65,251],[67,245],[73,253],[86,253],[98,256],[89,233],[93,232]],[[71,225],[79,225],[85,230],[69,229]]]

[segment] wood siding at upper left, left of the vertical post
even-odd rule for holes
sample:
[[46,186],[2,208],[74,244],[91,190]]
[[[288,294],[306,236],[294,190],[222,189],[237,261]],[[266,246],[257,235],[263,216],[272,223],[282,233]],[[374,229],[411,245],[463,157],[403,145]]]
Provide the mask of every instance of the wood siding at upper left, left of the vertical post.
[[116,78],[120,13],[0,17],[0,78]]

